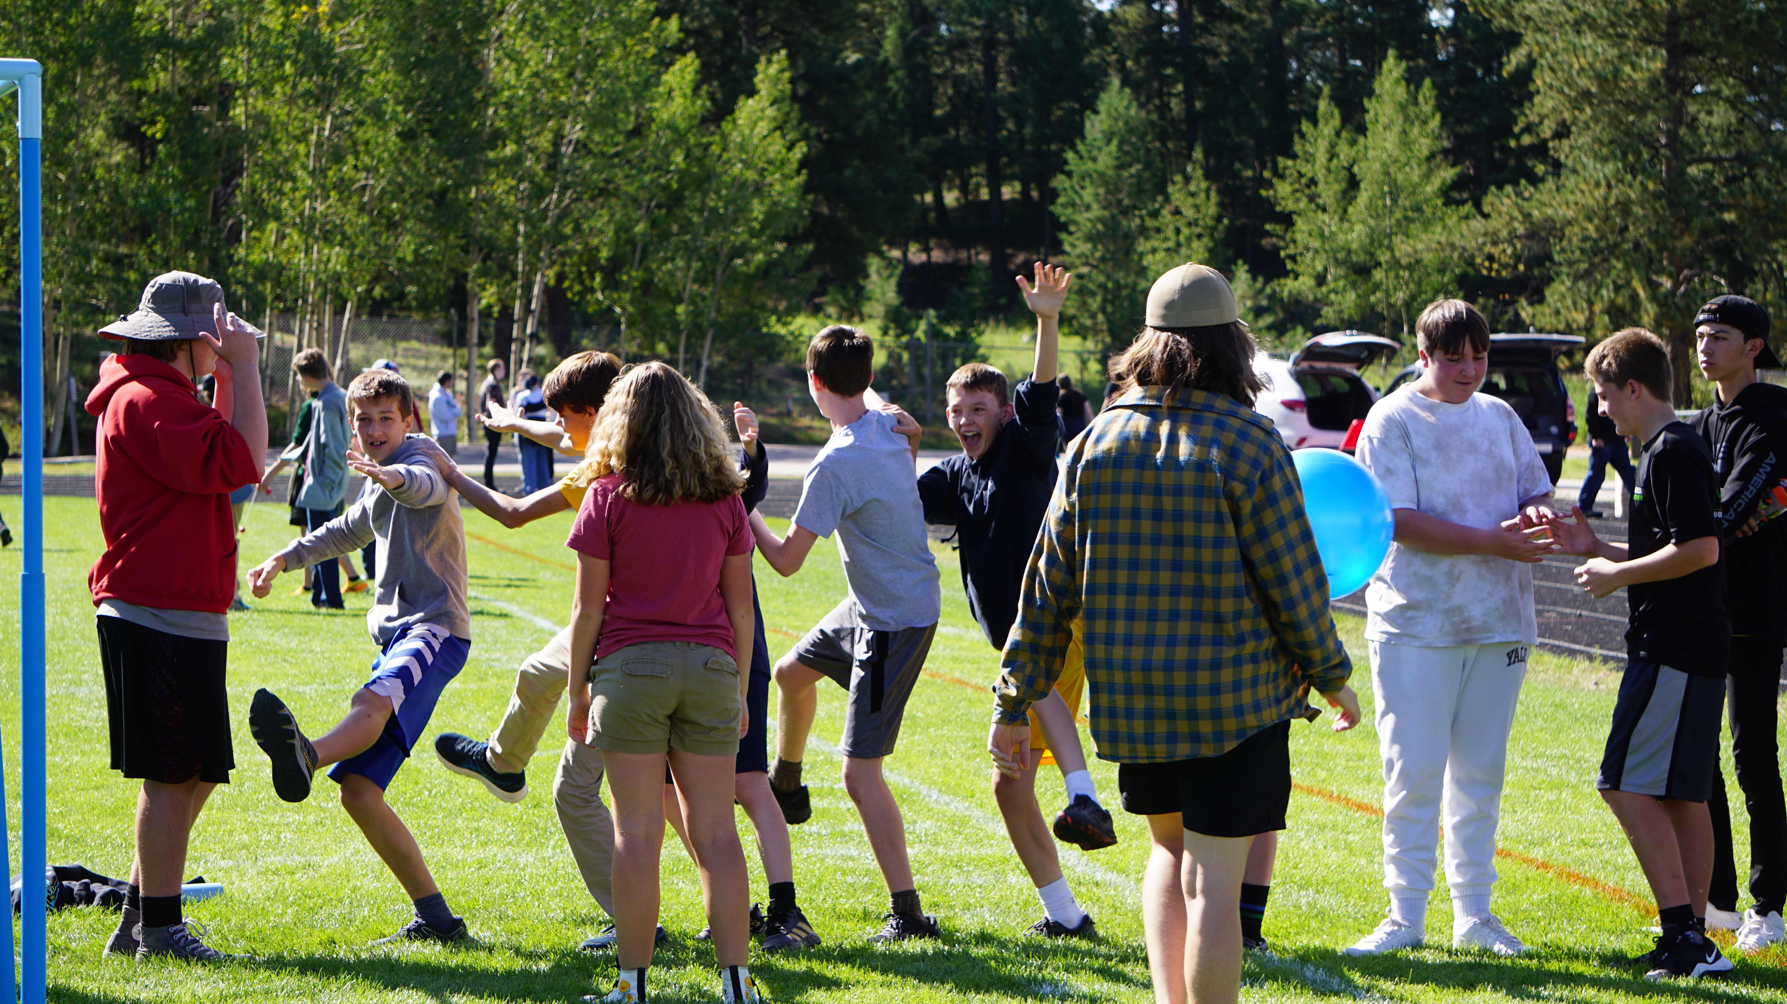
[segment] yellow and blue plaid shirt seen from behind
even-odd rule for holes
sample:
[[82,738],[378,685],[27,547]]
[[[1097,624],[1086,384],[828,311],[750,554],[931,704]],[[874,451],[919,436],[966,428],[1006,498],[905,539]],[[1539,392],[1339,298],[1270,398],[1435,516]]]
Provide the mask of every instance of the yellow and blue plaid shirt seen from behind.
[[1117,763],[1221,756],[1353,675],[1272,422],[1162,391],[1131,389],[1069,447],[994,686],[994,722],[1024,722],[1081,618],[1092,738]]

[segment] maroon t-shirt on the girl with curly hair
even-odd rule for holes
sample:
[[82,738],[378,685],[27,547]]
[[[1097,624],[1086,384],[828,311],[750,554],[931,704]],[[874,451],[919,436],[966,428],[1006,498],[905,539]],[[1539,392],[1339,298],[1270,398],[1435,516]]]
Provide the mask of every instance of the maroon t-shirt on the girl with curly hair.
[[624,481],[609,473],[590,484],[565,541],[609,563],[595,657],[645,641],[692,641],[736,659],[720,565],[754,545],[743,500],[642,506],[620,493]]

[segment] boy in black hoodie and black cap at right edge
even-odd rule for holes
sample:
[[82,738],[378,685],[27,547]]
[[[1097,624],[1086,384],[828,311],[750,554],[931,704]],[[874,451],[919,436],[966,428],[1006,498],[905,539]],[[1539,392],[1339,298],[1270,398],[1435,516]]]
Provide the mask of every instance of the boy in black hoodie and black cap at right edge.
[[1744,297],[1717,297],[1694,318],[1699,372],[1717,386],[1712,407],[1691,423],[1707,439],[1719,479],[1719,534],[1724,538],[1724,606],[1732,616],[1732,661],[1724,686],[1732,720],[1732,759],[1749,809],[1749,895],[1737,916],[1737,866],[1724,779],[1714,775],[1714,870],[1708,927],[1737,929],[1737,950],[1758,952],[1787,941],[1787,804],[1774,749],[1774,697],[1787,643],[1787,520],[1773,491],[1787,479],[1787,388],[1757,382],[1778,370],[1769,348],[1769,314]]

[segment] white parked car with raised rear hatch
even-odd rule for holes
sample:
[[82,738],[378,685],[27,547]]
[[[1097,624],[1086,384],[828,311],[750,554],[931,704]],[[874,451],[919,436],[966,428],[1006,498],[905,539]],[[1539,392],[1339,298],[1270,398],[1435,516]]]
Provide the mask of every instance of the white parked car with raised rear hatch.
[[1265,379],[1267,389],[1253,407],[1278,425],[1292,450],[1338,450],[1353,420],[1365,418],[1378,402],[1378,391],[1358,372],[1397,348],[1376,334],[1331,330],[1305,341],[1288,361],[1260,352],[1253,372]]

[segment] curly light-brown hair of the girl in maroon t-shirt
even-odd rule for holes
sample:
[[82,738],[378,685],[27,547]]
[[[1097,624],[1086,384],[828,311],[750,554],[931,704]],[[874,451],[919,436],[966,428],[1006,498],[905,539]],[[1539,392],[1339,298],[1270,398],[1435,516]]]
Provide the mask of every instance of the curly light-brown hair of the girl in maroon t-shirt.
[[665,363],[633,366],[608,388],[588,457],[591,479],[624,473],[620,493],[643,506],[718,502],[745,488],[720,411]]

